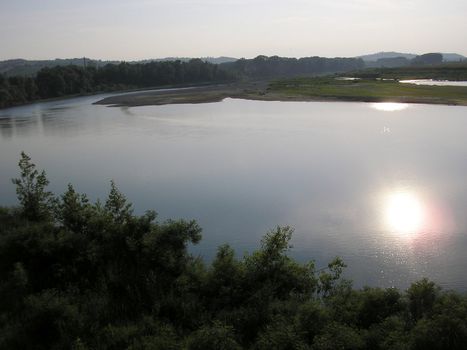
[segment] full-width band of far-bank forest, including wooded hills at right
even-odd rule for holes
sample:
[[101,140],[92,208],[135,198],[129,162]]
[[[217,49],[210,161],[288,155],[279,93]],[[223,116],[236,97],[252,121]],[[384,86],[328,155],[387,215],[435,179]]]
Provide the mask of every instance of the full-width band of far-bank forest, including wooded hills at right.
[[[75,61],[72,61],[75,62]],[[100,92],[184,87],[244,81],[309,78],[335,74],[366,79],[467,80],[465,62],[443,63],[425,54],[392,68],[368,68],[361,58],[258,56],[213,64],[202,59],[57,65],[36,75],[0,74],[0,108]]]

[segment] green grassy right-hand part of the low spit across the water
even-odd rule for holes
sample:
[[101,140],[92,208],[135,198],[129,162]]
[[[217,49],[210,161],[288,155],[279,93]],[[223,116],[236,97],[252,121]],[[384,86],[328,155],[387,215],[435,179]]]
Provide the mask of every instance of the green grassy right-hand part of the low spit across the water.
[[269,85],[268,94],[282,95],[285,99],[467,105],[467,87],[420,86],[376,79],[350,81],[320,77],[278,80]]

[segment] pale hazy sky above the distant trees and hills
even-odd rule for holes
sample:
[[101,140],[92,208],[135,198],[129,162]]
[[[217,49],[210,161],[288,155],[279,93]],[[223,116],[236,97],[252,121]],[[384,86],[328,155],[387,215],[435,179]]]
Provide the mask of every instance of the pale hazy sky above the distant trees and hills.
[[0,0],[0,59],[467,55],[467,0]]

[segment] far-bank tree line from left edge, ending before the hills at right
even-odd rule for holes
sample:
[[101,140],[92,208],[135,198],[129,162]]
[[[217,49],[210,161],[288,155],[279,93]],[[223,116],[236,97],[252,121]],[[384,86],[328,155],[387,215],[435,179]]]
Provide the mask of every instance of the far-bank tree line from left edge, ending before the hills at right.
[[136,88],[201,84],[238,79],[269,79],[283,76],[346,72],[364,67],[355,58],[286,58],[258,56],[235,62],[212,64],[201,59],[153,61],[96,66],[42,68],[34,77],[0,74],[0,108],[28,102]]

